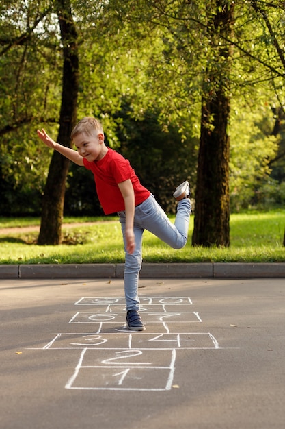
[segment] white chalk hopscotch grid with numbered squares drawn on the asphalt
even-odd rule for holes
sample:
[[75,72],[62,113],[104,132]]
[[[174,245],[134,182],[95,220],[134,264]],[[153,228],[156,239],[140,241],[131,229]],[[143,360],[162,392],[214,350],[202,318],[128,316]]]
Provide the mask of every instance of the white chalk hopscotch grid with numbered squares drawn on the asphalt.
[[146,331],[126,327],[123,297],[81,297],[68,324],[86,326],[92,332],[56,334],[44,350],[79,350],[80,356],[66,389],[107,391],[169,391],[174,382],[178,350],[217,350],[211,332],[189,332],[202,323],[191,311],[189,297],[142,297]]

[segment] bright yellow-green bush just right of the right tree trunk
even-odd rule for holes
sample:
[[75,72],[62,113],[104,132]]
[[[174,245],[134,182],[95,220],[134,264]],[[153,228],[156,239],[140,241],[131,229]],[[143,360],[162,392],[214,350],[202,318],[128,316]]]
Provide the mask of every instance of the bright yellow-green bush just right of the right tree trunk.
[[[252,112],[249,106],[234,109],[230,126],[230,201],[232,210],[248,208],[254,203],[256,190],[268,180],[269,160],[277,150],[271,135],[273,117],[269,106]],[[261,204],[260,200],[260,204]]]

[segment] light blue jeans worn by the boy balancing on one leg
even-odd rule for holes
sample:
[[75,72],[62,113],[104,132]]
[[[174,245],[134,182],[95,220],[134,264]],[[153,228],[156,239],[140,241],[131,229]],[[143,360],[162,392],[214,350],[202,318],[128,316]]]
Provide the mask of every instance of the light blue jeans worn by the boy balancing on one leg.
[[125,266],[124,266],[124,293],[126,299],[126,310],[139,310],[139,271],[141,270],[142,253],[141,243],[144,230],[152,232],[162,241],[174,249],[182,249],[187,243],[189,218],[191,204],[188,198],[178,202],[175,223],[171,223],[153,195],[150,195],[142,204],[135,208],[134,233],[135,252],[126,252],[126,215],[125,212],[118,212],[122,226],[122,234],[125,246]]

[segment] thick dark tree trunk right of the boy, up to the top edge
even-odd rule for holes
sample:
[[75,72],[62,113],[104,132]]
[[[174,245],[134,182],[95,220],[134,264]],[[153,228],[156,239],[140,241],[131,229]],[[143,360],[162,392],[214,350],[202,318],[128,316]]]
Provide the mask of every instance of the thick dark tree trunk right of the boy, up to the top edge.
[[211,53],[215,58],[208,66],[202,97],[192,237],[193,245],[205,247],[230,245],[230,139],[227,134],[230,97],[226,85],[230,81],[228,58],[231,47],[222,36],[229,36],[231,32],[232,3],[216,1],[217,13],[209,25]]

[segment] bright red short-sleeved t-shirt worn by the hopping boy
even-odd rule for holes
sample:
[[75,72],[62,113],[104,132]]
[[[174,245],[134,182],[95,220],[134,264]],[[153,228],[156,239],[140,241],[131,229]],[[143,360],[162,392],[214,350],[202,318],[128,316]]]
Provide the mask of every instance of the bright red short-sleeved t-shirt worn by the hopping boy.
[[118,187],[120,182],[131,179],[135,206],[150,196],[150,191],[141,185],[130,162],[110,147],[100,161],[89,162],[83,158],[83,163],[84,167],[94,174],[96,191],[105,215],[125,210],[124,198]]

